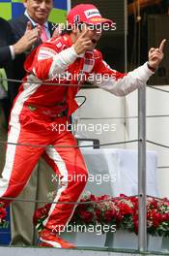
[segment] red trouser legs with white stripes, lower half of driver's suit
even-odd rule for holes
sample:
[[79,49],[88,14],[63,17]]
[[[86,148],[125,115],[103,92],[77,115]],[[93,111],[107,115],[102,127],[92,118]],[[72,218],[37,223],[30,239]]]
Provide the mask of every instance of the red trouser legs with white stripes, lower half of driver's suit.
[[[61,226],[66,225],[72,215],[74,205],[64,202],[76,202],[87,182],[87,170],[79,148],[68,147],[76,145],[75,139],[67,129],[56,129],[57,125],[66,123],[65,116],[46,122],[34,119],[31,115],[20,114],[19,121],[13,122],[10,127],[10,144],[7,144],[6,163],[0,179],[0,197],[15,198],[27,184],[43,155],[61,183],[54,199],[54,202],[61,204],[52,204],[43,223],[47,229],[54,231],[59,231]],[[49,144],[56,146],[41,146]],[[1,201],[6,205],[10,203],[10,200]]]

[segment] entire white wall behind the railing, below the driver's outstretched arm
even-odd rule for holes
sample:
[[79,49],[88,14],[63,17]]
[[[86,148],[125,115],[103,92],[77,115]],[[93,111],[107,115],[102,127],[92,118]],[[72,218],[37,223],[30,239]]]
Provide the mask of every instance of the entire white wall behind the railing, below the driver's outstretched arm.
[[[168,89],[169,86],[162,86]],[[126,98],[116,97],[101,89],[82,89],[78,95],[87,97],[86,103],[75,112],[75,117],[117,117],[117,116],[136,116],[138,114],[138,93],[130,93]],[[81,101],[81,100],[80,100]],[[147,114],[169,114],[169,94],[147,88]],[[93,124],[115,125],[116,131],[102,132],[87,131],[78,132],[78,136],[84,138],[99,139],[101,144],[137,139],[137,119],[103,119],[103,120],[78,120],[80,124],[89,127]],[[169,118],[147,118],[147,139],[161,144],[169,144]],[[109,147],[135,148],[136,144],[122,144]],[[153,144],[147,144],[147,149],[155,150],[158,155],[158,166],[169,166],[169,149],[162,148]],[[157,170],[157,185],[161,197],[169,198],[169,169]]]

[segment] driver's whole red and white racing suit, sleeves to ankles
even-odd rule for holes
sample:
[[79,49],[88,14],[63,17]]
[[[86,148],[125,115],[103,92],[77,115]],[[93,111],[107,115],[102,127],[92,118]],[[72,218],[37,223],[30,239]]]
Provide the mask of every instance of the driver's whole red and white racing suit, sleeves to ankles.
[[0,196],[16,197],[43,155],[61,180],[54,199],[61,204],[52,204],[43,224],[58,232],[69,222],[74,209],[64,202],[78,201],[88,176],[81,152],[73,147],[76,142],[67,129],[69,116],[77,109],[74,96],[80,85],[90,81],[117,96],[125,96],[144,86],[153,72],[145,63],[127,74],[119,73],[102,60],[97,49],[78,56],[67,34],[35,49],[28,56],[25,69],[27,76],[11,112],[10,144],[0,179]]

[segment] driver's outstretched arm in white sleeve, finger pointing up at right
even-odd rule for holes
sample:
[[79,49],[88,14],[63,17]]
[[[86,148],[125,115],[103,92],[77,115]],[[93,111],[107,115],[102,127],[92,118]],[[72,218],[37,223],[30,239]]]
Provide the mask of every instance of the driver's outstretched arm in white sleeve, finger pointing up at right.
[[133,90],[144,86],[163,58],[165,41],[161,42],[159,48],[151,48],[149,50],[148,62],[127,74],[112,70],[104,61],[100,60],[97,71],[100,76],[96,76],[94,83],[117,96],[125,96]]

